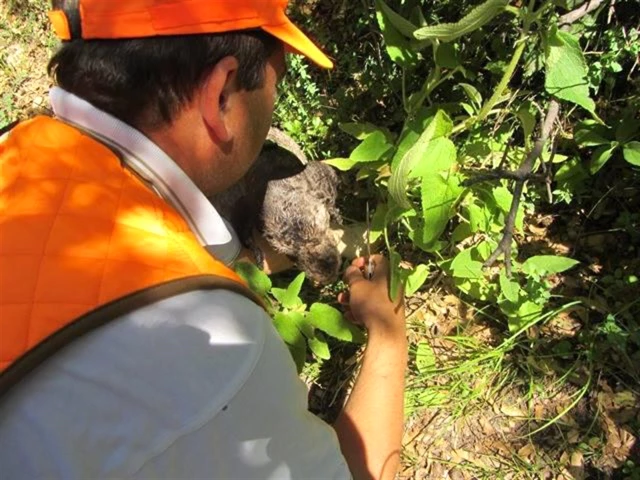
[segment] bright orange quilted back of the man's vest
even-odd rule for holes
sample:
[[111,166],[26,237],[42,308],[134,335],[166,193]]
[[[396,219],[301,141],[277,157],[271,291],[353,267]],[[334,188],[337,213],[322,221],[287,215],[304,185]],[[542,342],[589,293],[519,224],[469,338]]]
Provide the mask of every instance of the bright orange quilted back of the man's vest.
[[205,273],[243,283],[101,143],[48,117],[0,142],[0,371],[100,305]]

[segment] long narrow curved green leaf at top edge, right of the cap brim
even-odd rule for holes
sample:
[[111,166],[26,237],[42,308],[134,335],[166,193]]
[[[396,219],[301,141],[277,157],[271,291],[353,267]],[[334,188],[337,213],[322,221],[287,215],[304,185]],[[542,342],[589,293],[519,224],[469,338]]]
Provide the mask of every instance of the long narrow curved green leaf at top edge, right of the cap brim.
[[489,23],[502,13],[508,4],[509,0],[487,0],[471,10],[457,23],[441,23],[419,28],[413,33],[413,36],[418,40],[451,42]]

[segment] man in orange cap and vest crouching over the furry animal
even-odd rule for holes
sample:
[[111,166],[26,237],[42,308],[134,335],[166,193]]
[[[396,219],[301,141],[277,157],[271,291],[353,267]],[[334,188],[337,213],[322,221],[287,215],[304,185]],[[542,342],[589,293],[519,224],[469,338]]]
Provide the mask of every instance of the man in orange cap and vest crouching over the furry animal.
[[385,259],[345,273],[369,335],[331,428],[206,201],[258,155],[284,50],[331,67],[286,4],[54,2],[55,117],[0,142],[0,478],[395,476],[407,343]]

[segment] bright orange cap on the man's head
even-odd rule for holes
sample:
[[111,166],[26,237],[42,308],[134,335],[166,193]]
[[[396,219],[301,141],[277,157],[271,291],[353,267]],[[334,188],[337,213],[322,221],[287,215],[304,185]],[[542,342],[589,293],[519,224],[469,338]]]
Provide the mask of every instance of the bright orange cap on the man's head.
[[[261,28],[324,68],[333,62],[287,17],[288,0],[79,0],[79,12],[53,10],[61,40],[142,38]],[[79,14],[79,15],[78,15]],[[73,25],[70,17],[78,18]],[[76,32],[79,32],[76,34]]]

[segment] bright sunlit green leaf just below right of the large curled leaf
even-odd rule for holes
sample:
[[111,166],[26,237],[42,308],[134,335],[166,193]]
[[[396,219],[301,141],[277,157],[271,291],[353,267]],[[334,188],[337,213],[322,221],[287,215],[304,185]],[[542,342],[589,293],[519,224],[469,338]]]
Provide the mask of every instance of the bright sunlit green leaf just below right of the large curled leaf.
[[463,191],[460,177],[453,173],[448,173],[446,178],[440,173],[422,178],[422,218],[424,222],[422,243],[424,245],[430,245],[442,235],[454,214],[453,206]]

